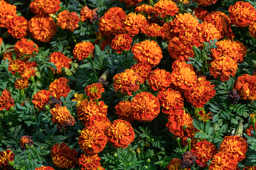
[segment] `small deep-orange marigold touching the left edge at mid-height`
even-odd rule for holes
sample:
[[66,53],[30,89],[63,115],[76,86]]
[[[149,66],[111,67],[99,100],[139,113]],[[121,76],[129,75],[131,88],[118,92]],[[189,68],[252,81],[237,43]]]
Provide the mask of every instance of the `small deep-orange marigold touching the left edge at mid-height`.
[[0,111],[4,109],[10,110],[12,106],[14,106],[14,99],[11,93],[5,89],[0,97]]

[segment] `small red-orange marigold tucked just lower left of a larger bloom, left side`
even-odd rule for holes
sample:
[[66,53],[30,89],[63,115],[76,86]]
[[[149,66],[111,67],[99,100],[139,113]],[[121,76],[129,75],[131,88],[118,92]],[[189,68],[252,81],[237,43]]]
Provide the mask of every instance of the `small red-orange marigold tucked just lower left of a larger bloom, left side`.
[[50,96],[54,96],[53,93],[47,90],[38,91],[32,98],[35,108],[43,110],[44,106],[49,102]]

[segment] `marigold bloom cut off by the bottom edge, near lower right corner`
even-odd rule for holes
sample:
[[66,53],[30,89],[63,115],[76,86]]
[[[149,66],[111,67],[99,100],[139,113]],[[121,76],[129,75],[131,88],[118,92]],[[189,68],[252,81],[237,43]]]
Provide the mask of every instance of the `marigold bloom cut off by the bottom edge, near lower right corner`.
[[236,169],[236,164],[235,155],[228,152],[217,153],[213,156],[209,170],[234,170]]

